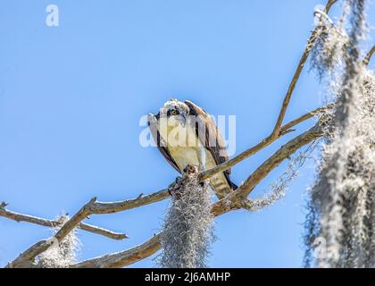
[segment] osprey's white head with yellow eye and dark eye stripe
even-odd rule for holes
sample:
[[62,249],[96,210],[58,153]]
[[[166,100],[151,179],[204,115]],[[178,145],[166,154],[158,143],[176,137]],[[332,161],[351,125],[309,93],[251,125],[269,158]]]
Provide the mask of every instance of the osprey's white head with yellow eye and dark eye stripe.
[[175,98],[168,100],[160,109],[160,116],[167,118],[168,124],[171,126],[180,124],[185,127],[188,114],[188,106]]

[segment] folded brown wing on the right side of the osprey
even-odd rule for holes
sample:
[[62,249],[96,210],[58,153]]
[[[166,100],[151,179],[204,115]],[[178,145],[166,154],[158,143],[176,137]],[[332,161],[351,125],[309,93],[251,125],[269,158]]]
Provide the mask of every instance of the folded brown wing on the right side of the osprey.
[[[196,130],[196,136],[199,137],[204,147],[209,150],[212,154],[216,164],[221,164],[229,160],[227,147],[225,141],[221,136],[215,122],[212,117],[207,114],[202,108],[195,105],[189,100],[185,101],[185,104],[189,108],[189,114],[196,116],[196,126],[193,126]],[[203,131],[199,129],[204,128]],[[229,182],[229,186],[232,184],[229,180],[230,169],[224,171],[224,175]]]

